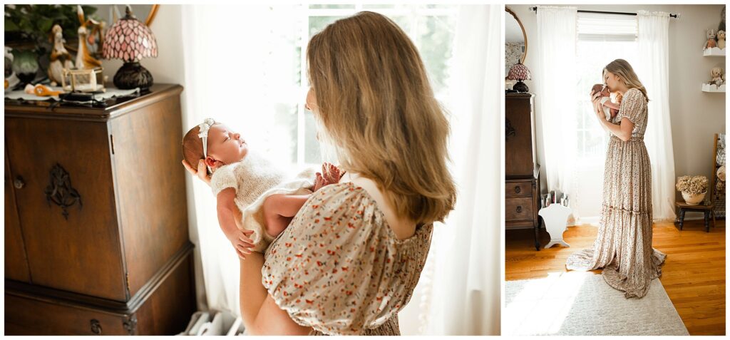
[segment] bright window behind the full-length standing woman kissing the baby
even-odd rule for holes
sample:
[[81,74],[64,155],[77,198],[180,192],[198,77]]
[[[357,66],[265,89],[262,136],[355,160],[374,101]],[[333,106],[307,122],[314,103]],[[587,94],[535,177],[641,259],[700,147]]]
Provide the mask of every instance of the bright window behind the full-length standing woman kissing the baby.
[[602,164],[609,135],[593,117],[588,94],[602,84],[607,63],[621,58],[634,64],[637,54],[637,20],[631,15],[578,13],[577,164]]

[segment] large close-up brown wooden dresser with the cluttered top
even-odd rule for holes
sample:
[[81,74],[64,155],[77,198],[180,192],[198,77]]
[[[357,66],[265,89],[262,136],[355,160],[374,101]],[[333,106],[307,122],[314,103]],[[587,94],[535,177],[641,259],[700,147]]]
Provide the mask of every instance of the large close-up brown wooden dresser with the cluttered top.
[[173,335],[196,310],[180,85],[5,101],[5,334]]

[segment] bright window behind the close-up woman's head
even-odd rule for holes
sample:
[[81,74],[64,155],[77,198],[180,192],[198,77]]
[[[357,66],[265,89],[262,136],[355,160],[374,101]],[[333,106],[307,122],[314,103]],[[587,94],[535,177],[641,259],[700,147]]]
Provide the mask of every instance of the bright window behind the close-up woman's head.
[[[315,118],[304,109],[304,95],[309,89],[306,74],[307,42],[330,23],[364,10],[379,12],[396,22],[415,43],[426,66],[435,96],[445,103],[453,34],[456,27],[456,6],[445,4],[310,4],[296,38],[296,75],[299,90],[291,107],[277,109],[277,120],[286,126],[291,163],[321,163],[316,139]],[[295,115],[296,113],[296,115]]]

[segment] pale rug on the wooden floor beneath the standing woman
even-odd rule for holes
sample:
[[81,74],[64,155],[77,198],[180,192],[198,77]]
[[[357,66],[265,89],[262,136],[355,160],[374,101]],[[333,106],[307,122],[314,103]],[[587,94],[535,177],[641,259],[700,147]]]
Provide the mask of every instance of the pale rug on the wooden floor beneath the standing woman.
[[502,335],[686,336],[659,279],[643,298],[624,298],[599,274],[550,274],[504,283]]

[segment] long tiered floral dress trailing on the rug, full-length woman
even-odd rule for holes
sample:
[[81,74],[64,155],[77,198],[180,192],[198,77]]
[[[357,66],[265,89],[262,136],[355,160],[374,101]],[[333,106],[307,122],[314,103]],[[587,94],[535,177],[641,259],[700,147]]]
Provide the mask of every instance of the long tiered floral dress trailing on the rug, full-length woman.
[[648,109],[644,94],[631,88],[612,123],[634,123],[631,139],[611,136],[606,152],[603,206],[593,247],[570,255],[566,268],[603,268],[603,277],[626,298],[642,298],[652,279],[661,276],[666,255],[653,249],[651,165],[644,144]]

